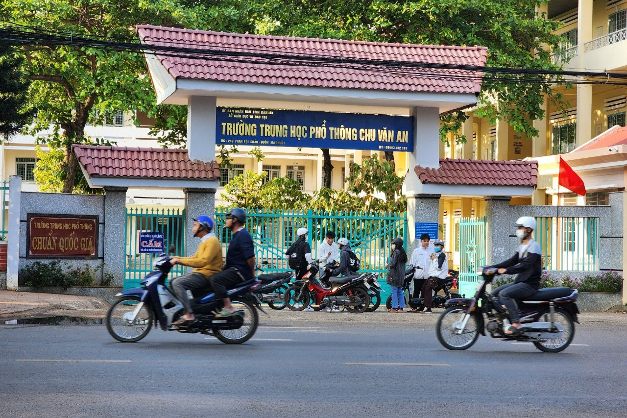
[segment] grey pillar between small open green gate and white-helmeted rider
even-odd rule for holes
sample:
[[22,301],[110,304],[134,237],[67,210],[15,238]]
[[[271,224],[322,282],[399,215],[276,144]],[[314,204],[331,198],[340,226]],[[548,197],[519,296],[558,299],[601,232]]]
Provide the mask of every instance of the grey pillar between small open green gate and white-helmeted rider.
[[[487,265],[502,262],[511,257],[509,236],[514,234],[510,219],[510,196],[488,196],[485,198],[485,263]],[[510,254],[512,253],[512,254]]]

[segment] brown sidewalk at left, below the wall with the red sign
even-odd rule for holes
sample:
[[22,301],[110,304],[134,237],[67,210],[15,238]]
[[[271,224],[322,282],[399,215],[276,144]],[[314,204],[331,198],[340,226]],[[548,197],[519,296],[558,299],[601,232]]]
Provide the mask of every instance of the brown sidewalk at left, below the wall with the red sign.
[[99,297],[75,296],[71,294],[16,292],[0,290],[0,319],[17,319],[28,316],[50,316],[58,311],[68,311],[69,316],[104,316],[108,304]]

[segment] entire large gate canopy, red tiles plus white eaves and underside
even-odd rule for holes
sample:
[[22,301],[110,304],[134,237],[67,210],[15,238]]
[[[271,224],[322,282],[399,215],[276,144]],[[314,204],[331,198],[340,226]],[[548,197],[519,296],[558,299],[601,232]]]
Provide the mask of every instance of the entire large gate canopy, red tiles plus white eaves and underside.
[[[285,38],[137,26],[157,100],[408,115],[477,102],[487,48]],[[163,48],[163,49],[159,49]],[[470,66],[471,70],[463,69]],[[301,105],[296,103],[301,102]],[[349,107],[347,107],[349,106]],[[394,109],[396,108],[396,109]],[[369,110],[368,110],[369,109]]]

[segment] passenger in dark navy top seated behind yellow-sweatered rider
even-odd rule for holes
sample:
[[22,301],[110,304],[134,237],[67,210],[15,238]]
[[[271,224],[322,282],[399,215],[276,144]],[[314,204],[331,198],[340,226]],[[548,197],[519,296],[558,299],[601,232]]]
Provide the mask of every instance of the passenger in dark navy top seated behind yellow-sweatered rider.
[[255,277],[255,245],[253,237],[245,228],[246,211],[242,208],[232,208],[224,218],[226,218],[224,228],[231,230],[231,242],[226,249],[223,270],[210,279],[216,297],[224,302],[224,308],[216,314],[216,318],[238,313],[233,308],[231,299],[226,296],[226,291]]

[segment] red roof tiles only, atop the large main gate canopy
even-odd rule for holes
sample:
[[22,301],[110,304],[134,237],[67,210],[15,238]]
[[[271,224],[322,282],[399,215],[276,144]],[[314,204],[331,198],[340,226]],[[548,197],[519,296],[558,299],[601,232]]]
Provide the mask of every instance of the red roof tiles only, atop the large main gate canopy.
[[[139,25],[142,43],[152,46],[214,50],[215,55],[157,53],[169,74],[177,78],[220,82],[264,83],[305,87],[360,88],[403,92],[480,92],[482,73],[460,69],[394,68],[355,63],[303,63],[293,58],[279,61],[270,56],[307,56],[345,60],[386,60],[449,65],[485,66],[487,48],[342,41],[283,36],[240,35],[190,29]],[[226,53],[226,55],[225,55]],[[238,54],[254,54],[240,55]],[[177,55],[179,54],[179,55]],[[289,62],[292,61],[290,64]],[[283,62],[283,63],[282,63]]]

